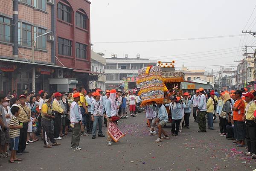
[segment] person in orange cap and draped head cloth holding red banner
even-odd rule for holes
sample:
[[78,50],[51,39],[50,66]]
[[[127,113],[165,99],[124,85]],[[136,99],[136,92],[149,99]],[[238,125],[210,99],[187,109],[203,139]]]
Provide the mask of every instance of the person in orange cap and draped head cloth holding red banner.
[[[113,122],[112,117],[118,115],[117,114],[117,112],[118,112],[117,106],[118,106],[118,104],[116,101],[116,90],[112,89],[112,90],[110,90],[109,98],[106,100],[106,104],[105,104],[105,110],[106,110],[106,114],[108,117],[107,118],[107,128],[109,126],[109,122]],[[112,145],[111,140],[112,140],[112,138],[109,135],[108,130],[107,130],[108,145]]]

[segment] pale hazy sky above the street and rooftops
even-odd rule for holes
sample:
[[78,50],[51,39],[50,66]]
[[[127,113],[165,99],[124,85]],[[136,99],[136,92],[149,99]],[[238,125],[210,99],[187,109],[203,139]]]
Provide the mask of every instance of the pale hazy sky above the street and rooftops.
[[175,60],[176,68],[184,64],[189,69],[209,71],[213,68],[217,71],[219,66],[213,65],[237,65],[234,61],[242,59],[244,45],[256,46],[256,38],[248,34],[186,41],[96,43],[241,35],[244,28],[256,31],[255,0],[90,1],[93,50],[105,52],[108,58],[111,53],[117,54],[118,58],[123,58],[124,54],[135,58],[140,53],[141,58],[164,62]]

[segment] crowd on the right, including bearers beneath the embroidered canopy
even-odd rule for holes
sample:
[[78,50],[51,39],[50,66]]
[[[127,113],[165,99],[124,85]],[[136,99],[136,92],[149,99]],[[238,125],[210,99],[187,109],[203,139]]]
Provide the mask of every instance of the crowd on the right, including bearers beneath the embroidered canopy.
[[[194,122],[198,122],[200,133],[207,132],[207,129],[215,130],[213,121],[218,117],[220,136],[233,140],[233,145],[238,147],[247,146],[245,155],[256,159],[255,91],[248,92],[246,88],[242,88],[236,91],[223,91],[219,94],[217,90],[206,93],[203,88],[199,88],[192,97],[185,92],[180,95],[174,93],[169,96],[169,99],[170,103],[153,103],[145,106],[146,118],[150,125],[149,134],[157,135],[156,125],[158,128],[158,138],[155,142],[169,139],[163,130],[168,122],[166,107],[169,107],[172,116],[172,136],[178,136],[182,128],[189,129],[191,112]],[[162,133],[163,137],[161,137]]]

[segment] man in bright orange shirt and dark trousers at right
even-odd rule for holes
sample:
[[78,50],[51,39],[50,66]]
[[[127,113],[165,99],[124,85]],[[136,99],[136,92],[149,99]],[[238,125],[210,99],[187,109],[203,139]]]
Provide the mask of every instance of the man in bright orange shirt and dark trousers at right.
[[236,141],[234,143],[237,143],[238,146],[243,147],[244,146],[244,139],[246,137],[246,125],[243,120],[244,116],[244,100],[241,99],[242,91],[236,90],[235,92],[235,98],[236,101],[233,106],[233,120],[234,120],[234,135],[236,138]]

